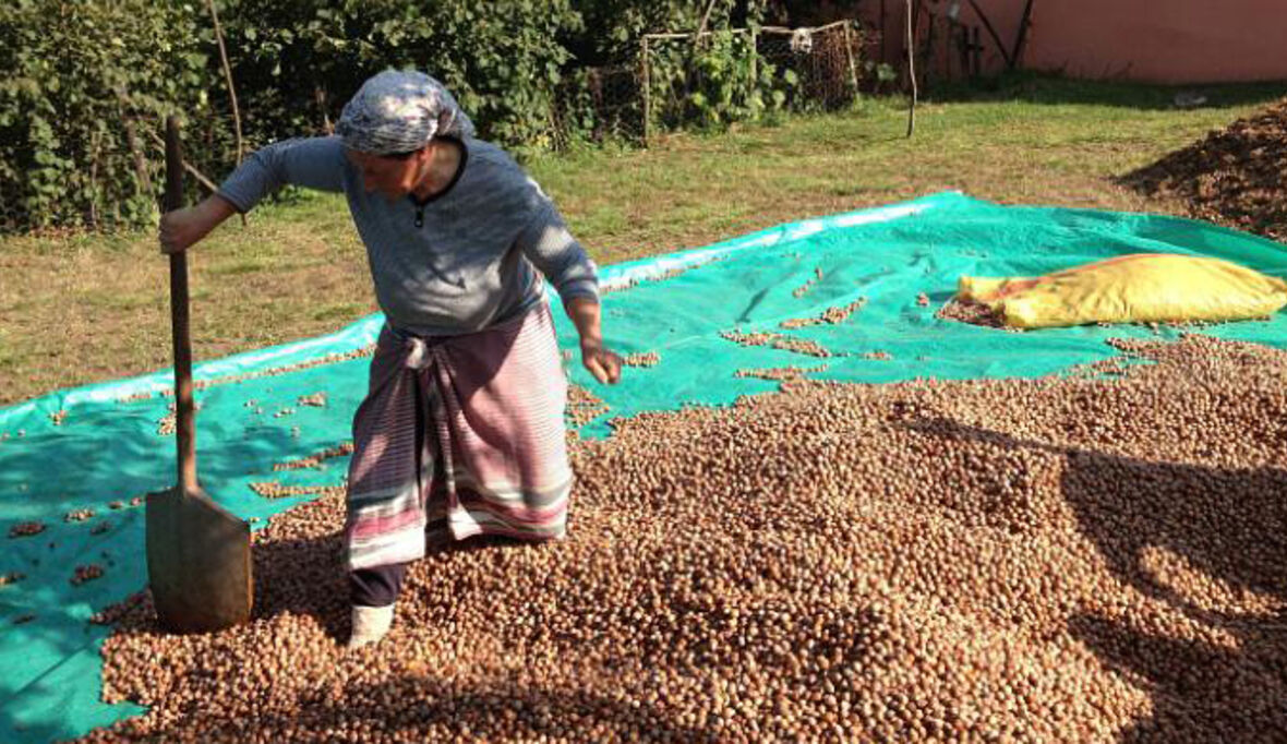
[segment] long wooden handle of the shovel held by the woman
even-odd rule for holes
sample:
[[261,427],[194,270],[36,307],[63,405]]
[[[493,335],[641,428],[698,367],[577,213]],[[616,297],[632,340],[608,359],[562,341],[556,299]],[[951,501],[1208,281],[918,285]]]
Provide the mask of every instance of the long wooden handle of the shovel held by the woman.
[[[179,117],[165,121],[165,211],[183,207],[183,139]],[[170,254],[170,326],[174,330],[174,402],[179,484],[197,490],[197,417],[192,399],[192,336],[188,332],[188,254]]]

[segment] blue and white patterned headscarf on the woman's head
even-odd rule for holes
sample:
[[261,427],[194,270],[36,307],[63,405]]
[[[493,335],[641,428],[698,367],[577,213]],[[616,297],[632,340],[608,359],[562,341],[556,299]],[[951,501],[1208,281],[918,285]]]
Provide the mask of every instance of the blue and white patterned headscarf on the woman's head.
[[396,154],[435,136],[472,136],[474,122],[441,82],[423,72],[386,70],[362,84],[335,130],[351,149]]

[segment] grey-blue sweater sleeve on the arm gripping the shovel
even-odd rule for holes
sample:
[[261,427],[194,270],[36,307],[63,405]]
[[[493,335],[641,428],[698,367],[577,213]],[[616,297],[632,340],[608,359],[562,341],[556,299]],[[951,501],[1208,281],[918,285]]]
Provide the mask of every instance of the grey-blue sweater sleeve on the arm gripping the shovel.
[[219,187],[219,196],[247,212],[286,184],[340,192],[346,165],[338,136],[288,139],[255,152]]

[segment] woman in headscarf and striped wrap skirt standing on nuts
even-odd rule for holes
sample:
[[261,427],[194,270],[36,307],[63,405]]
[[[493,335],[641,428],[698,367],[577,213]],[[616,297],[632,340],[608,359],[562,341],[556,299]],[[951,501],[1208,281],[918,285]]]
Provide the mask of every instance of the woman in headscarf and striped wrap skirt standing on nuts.
[[205,201],[166,214],[183,251],[283,184],[342,192],[387,319],[353,422],[349,647],[390,628],[407,564],[426,543],[564,537],[571,471],[566,380],[543,274],[580,336],[582,363],[614,384],[595,264],[541,188],[432,77],[363,84],[336,136],[256,152]]

